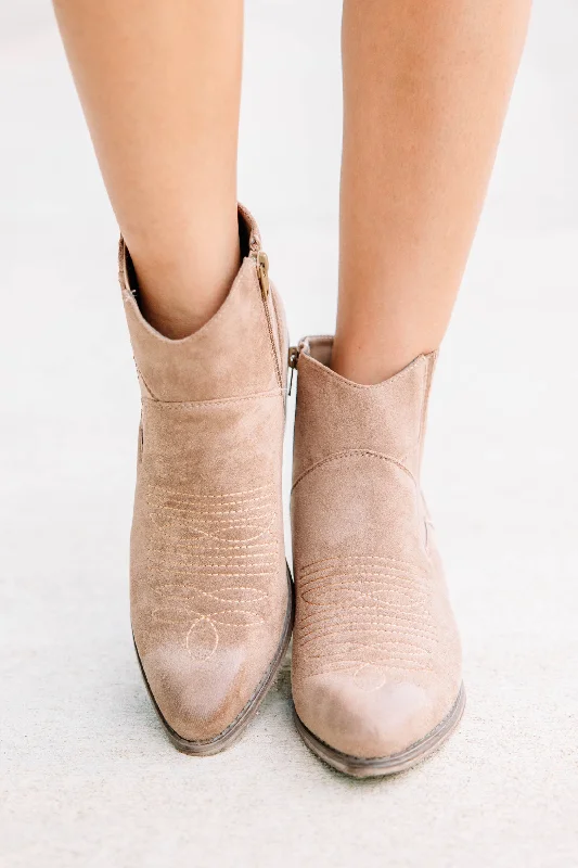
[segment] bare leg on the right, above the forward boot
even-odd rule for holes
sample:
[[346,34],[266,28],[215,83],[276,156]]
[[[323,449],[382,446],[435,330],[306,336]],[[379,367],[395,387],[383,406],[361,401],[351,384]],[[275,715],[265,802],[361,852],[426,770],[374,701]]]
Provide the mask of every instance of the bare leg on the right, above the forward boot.
[[445,334],[530,0],[345,0],[333,367],[377,383]]

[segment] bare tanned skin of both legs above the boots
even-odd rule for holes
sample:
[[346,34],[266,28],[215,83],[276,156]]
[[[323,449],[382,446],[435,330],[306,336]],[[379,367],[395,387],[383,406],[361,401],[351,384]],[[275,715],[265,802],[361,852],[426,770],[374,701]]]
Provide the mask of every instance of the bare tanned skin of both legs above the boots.
[[[183,337],[239,268],[243,0],[55,0],[149,321]],[[332,366],[378,383],[446,332],[530,0],[345,0]]]

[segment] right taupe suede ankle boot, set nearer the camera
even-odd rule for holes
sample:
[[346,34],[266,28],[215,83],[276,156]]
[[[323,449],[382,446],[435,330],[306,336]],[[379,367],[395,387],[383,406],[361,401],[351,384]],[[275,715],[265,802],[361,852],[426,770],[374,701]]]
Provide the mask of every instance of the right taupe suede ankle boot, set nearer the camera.
[[362,386],[301,342],[292,521],[293,697],[306,744],[357,777],[400,771],[464,707],[460,640],[420,488],[435,354]]

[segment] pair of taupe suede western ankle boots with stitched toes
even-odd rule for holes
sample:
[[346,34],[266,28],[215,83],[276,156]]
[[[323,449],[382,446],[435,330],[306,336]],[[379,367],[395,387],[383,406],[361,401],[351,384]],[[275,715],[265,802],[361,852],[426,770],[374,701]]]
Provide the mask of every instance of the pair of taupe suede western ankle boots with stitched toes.
[[[460,641],[420,489],[435,354],[362,386],[332,340],[288,352],[251,215],[215,317],[169,340],[120,283],[142,393],[131,622],[144,681],[179,749],[223,750],[283,662],[293,630],[297,729],[358,777],[413,765],[459,723]],[[298,371],[292,489],[295,591],[281,468],[287,357]]]

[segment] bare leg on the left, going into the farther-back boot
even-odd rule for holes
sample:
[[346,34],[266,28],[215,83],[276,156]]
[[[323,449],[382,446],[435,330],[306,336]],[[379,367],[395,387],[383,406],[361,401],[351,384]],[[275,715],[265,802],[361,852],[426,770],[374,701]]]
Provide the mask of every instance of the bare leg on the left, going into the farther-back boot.
[[243,0],[55,0],[143,312],[182,337],[239,268]]

